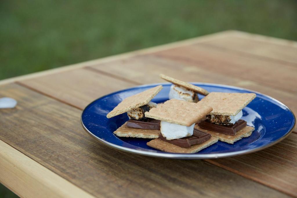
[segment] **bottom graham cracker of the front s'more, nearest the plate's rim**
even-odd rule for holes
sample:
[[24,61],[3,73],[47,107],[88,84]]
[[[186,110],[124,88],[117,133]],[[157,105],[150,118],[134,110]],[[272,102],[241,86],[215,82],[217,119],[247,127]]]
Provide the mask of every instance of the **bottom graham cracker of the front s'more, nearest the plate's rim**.
[[146,145],[158,149],[160,151],[168,152],[168,153],[197,153],[198,151],[201,151],[202,149],[213,145],[218,141],[218,138],[216,137],[211,137],[209,140],[206,142],[203,142],[201,144],[195,144],[192,145],[189,148],[182,148],[179,146],[176,146],[174,144],[170,144],[169,142],[165,142],[160,139],[154,139],[146,143]]

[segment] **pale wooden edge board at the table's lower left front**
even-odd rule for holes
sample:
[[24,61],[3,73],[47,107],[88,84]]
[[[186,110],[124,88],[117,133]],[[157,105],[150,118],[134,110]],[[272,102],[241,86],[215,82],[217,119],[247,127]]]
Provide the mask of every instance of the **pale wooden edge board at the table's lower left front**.
[[20,197],[93,197],[1,140],[0,151],[0,182]]

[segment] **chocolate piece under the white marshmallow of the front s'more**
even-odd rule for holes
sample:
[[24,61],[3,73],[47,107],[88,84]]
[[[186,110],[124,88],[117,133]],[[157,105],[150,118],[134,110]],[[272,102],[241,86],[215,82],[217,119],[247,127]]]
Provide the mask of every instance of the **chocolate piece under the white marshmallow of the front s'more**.
[[170,144],[174,144],[183,148],[189,148],[192,145],[206,142],[211,138],[211,135],[194,129],[193,135],[189,137],[183,137],[175,140],[166,140],[166,138],[160,134],[159,138],[165,142],[169,142]]

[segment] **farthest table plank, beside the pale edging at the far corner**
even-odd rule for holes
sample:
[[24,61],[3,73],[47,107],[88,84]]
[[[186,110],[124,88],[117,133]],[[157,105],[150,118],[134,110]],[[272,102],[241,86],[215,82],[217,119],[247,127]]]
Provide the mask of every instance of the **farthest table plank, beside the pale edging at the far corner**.
[[294,41],[271,42],[271,39],[258,39],[254,34],[234,32],[227,37],[209,40],[203,44],[245,53],[254,58],[297,66],[297,42]]

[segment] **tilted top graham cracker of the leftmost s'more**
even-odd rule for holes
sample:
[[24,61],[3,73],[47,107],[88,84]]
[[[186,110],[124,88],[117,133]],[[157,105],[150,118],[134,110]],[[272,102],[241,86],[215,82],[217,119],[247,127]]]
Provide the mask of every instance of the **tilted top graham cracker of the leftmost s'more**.
[[132,109],[148,104],[151,99],[153,99],[159,93],[159,91],[161,91],[161,89],[162,85],[158,85],[157,87],[150,88],[146,91],[125,98],[122,102],[120,102],[120,104],[114,107],[114,109],[109,112],[106,117],[112,118],[116,115],[120,115]]

